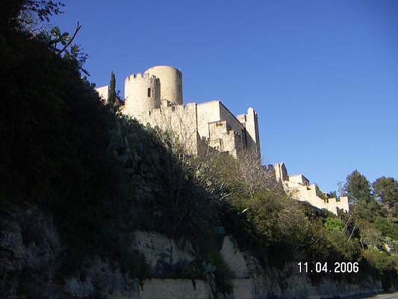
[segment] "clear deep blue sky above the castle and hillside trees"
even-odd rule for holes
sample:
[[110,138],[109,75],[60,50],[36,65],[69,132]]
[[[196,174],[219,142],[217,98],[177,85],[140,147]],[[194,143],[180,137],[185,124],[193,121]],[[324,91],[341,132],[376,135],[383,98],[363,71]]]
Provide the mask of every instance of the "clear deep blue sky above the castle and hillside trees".
[[398,178],[397,0],[70,0],[54,18],[97,86],[154,65],[183,72],[184,102],[259,114],[264,163],[324,191],[357,168]]

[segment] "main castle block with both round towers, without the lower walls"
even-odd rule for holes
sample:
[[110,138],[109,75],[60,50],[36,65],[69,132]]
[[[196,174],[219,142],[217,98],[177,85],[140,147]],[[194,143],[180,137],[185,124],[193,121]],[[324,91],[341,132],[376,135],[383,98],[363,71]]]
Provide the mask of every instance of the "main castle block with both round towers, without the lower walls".
[[[171,66],[154,66],[125,79],[122,113],[143,125],[174,131],[190,152],[208,142],[237,157],[240,149],[260,155],[257,114],[252,108],[238,120],[220,101],[183,105],[182,73]],[[210,136],[210,123],[225,121],[228,129]],[[225,130],[224,130],[225,131]],[[222,135],[217,136],[216,135]]]

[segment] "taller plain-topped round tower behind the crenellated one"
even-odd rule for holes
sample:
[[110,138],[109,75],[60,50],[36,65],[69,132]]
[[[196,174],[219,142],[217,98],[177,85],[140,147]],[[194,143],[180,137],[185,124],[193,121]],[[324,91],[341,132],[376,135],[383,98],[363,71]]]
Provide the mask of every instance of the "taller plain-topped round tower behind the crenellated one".
[[160,99],[169,102],[183,104],[183,75],[168,65],[159,65],[147,69],[144,74],[156,76],[160,79]]

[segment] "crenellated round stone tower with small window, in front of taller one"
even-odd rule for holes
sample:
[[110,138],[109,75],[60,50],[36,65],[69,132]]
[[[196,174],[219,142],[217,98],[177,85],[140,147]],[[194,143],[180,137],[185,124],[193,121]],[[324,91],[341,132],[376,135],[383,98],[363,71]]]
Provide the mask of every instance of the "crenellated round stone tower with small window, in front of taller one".
[[150,75],[137,73],[124,81],[124,113],[137,116],[160,108],[160,82]]

